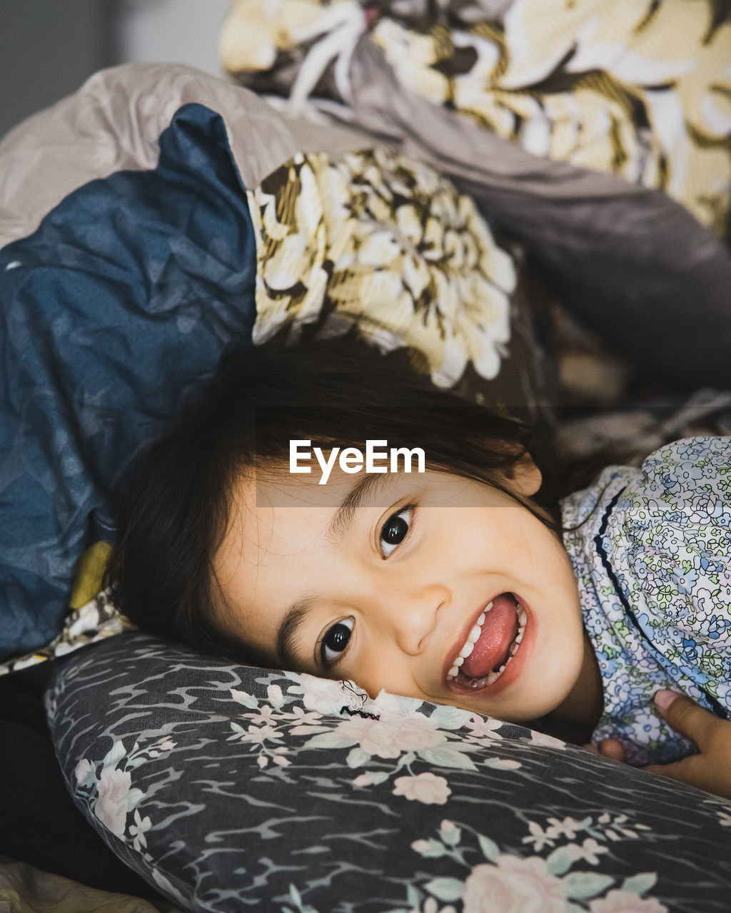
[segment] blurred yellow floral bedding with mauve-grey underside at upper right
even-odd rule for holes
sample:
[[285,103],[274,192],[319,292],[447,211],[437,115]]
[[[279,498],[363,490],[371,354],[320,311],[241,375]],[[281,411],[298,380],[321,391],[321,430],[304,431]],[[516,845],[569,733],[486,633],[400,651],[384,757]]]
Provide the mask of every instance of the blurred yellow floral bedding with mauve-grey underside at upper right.
[[237,0],[220,47],[289,110],[450,174],[645,376],[728,384],[726,8]]

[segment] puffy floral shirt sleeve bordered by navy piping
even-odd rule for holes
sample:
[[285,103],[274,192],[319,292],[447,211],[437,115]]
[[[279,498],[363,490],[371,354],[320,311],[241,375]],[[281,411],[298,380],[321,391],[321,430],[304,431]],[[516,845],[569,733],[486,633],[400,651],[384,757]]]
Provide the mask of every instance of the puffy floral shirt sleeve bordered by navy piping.
[[632,622],[683,689],[731,710],[731,438],[652,453],[622,493],[612,563]]

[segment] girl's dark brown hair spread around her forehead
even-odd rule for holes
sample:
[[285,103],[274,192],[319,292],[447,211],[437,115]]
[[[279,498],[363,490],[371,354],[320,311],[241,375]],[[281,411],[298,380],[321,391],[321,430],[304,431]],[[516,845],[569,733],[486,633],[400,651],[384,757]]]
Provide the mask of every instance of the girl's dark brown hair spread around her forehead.
[[[213,560],[238,477],[247,467],[286,466],[294,438],[361,450],[368,438],[419,446],[429,468],[512,497],[504,479],[526,453],[546,472],[527,425],[435,387],[415,369],[418,357],[407,349],[381,355],[355,332],[229,355],[122,491],[121,537],[106,575],[122,612],[154,634],[256,660],[215,623]],[[518,499],[557,529],[549,485],[535,503]]]

